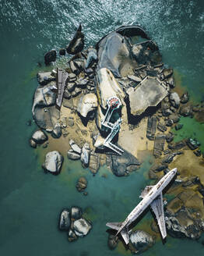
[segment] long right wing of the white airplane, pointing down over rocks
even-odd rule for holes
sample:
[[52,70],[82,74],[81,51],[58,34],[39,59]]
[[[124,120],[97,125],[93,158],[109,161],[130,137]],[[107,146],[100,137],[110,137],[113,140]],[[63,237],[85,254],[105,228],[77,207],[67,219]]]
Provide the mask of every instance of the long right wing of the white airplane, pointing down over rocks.
[[154,201],[150,204],[154,214],[157,218],[157,223],[160,227],[160,233],[163,237],[163,239],[167,236],[167,230],[165,226],[165,220],[164,220],[164,205],[163,205],[163,197],[162,193],[154,199]]

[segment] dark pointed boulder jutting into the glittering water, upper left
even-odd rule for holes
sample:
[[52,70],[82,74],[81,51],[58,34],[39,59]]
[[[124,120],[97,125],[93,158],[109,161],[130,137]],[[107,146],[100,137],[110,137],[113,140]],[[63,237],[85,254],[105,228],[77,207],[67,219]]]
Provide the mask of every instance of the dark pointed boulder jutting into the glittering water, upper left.
[[82,26],[79,24],[76,34],[70,41],[68,47],[66,48],[67,53],[75,55],[83,50],[84,46],[84,34],[82,33]]

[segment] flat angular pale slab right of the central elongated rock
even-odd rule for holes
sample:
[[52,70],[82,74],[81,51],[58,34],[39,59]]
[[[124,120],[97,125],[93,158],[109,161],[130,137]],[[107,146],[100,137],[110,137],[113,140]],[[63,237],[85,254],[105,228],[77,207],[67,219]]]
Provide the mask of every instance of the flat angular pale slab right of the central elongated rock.
[[139,116],[146,108],[157,106],[168,94],[169,87],[157,77],[146,76],[137,87],[127,90],[132,115]]

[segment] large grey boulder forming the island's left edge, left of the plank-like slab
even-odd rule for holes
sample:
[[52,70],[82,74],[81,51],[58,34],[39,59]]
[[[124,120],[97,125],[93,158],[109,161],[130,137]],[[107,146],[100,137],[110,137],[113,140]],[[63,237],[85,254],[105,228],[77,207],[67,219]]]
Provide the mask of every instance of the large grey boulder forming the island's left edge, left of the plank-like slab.
[[44,86],[38,86],[33,98],[33,119],[42,129],[53,130],[58,122],[60,112],[55,107],[56,84],[51,82]]

